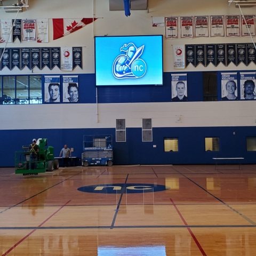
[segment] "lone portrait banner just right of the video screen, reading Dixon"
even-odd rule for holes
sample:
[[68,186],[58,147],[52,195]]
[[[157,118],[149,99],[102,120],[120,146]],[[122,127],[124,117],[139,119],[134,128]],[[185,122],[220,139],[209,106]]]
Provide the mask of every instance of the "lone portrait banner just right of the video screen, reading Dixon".
[[172,101],[187,101],[187,74],[171,74]]

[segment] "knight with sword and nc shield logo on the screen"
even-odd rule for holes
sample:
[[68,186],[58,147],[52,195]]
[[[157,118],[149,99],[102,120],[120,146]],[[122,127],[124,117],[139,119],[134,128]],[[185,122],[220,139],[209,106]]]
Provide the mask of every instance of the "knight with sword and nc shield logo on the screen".
[[137,48],[134,43],[124,44],[120,54],[116,57],[112,67],[112,73],[117,79],[140,78],[146,74],[146,62],[139,57],[142,55],[144,46]]

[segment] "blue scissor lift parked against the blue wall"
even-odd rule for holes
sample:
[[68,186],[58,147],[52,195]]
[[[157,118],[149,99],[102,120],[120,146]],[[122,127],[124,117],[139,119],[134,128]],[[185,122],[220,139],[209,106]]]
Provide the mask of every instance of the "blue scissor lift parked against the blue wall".
[[112,135],[84,135],[82,165],[113,165]]

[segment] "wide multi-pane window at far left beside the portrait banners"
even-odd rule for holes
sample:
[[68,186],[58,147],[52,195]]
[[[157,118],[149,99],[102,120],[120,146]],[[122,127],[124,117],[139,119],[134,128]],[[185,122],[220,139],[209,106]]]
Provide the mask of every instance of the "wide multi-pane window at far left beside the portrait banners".
[[42,103],[41,76],[0,76],[0,99],[3,104]]

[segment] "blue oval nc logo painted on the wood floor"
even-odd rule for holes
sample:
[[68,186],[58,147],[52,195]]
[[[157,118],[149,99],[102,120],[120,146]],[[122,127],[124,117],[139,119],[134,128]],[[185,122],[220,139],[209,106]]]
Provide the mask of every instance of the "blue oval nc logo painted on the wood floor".
[[130,193],[149,193],[169,189],[164,185],[155,184],[138,184],[138,183],[116,183],[102,184],[80,187],[77,190],[87,193],[102,194],[130,194]]

